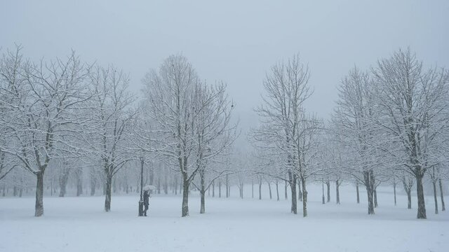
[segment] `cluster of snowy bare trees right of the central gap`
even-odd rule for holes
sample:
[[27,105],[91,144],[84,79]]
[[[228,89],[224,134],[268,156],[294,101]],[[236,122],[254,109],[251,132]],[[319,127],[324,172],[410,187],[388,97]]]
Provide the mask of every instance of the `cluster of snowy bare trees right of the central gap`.
[[[339,99],[328,123],[309,115],[309,69],[295,55],[272,67],[257,108],[260,127],[250,134],[259,158],[259,174],[286,181],[291,211],[297,213],[297,183],[302,214],[307,216],[307,181],[343,179],[366,186],[368,214],[377,207],[376,188],[402,181],[408,194],[417,188],[417,218],[426,218],[423,178],[434,188],[448,177],[449,71],[424,68],[413,52],[398,50],[369,71],[356,67],[338,87]],[[413,178],[413,179],[412,179]],[[324,193],[323,193],[324,204]]]

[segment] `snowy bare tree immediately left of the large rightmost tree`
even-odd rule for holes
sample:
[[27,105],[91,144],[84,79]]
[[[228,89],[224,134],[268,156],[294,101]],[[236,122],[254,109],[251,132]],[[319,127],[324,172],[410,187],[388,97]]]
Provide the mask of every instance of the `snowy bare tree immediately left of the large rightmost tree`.
[[[343,78],[339,87],[339,100],[333,114],[334,141],[347,150],[350,163],[345,167],[358,183],[366,187],[368,214],[374,214],[375,128],[370,118],[373,110],[373,85],[369,73],[356,67]],[[341,150],[341,148],[340,148]],[[337,158],[340,154],[336,155]]]

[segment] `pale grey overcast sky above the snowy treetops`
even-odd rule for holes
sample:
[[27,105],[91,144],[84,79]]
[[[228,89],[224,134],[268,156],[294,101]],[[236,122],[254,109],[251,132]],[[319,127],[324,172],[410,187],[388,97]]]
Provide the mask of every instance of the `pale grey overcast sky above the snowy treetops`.
[[449,1],[6,1],[0,47],[32,58],[67,55],[113,63],[134,90],[150,68],[182,52],[199,75],[224,80],[243,127],[253,125],[272,64],[299,52],[314,95],[307,109],[328,118],[336,85],[357,64],[410,46],[449,67]]

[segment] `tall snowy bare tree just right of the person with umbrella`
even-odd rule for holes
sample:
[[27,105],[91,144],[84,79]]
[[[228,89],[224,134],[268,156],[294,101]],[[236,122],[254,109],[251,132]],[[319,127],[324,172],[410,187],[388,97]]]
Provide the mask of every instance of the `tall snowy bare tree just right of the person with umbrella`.
[[192,65],[182,55],[168,57],[159,72],[150,71],[142,80],[145,99],[155,131],[159,133],[162,155],[177,163],[182,177],[182,216],[189,215],[189,186],[199,166],[189,162],[194,157],[194,89],[200,81]]

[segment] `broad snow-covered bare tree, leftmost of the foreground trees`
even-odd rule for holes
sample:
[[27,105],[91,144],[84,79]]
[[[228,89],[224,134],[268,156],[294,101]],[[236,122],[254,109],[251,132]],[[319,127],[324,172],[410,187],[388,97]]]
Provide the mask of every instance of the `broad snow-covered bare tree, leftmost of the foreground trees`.
[[[15,64],[14,71],[3,75],[11,97],[3,105],[13,115],[8,131],[14,144],[2,147],[2,151],[14,155],[22,167],[36,175],[34,215],[42,216],[43,175],[53,158],[72,151],[62,136],[68,134],[65,127],[75,123],[79,105],[90,98],[85,82],[88,67],[74,52],[65,60],[39,64],[22,62],[21,58],[18,52],[6,60]],[[57,144],[60,149],[55,151]]]

